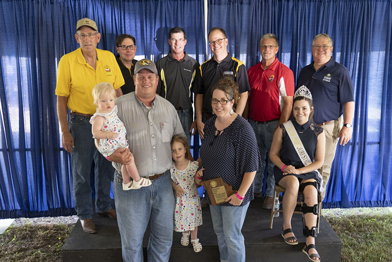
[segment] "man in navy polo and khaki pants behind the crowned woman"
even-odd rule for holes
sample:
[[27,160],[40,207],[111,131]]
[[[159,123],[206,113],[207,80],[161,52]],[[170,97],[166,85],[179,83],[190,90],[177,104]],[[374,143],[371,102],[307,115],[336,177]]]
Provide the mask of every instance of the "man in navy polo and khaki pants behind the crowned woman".
[[[350,73],[331,57],[332,39],[327,34],[318,34],[313,39],[314,61],[302,68],[297,87],[305,85],[313,97],[313,120],[325,133],[325,158],[323,181],[326,187],[336,147],[351,139],[354,117],[354,94]],[[325,190],[322,198],[325,197]]]

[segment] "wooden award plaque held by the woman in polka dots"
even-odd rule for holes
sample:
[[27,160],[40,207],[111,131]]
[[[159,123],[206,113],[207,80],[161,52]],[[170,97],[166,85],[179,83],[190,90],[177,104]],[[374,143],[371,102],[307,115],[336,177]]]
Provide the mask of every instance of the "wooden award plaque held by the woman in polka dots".
[[200,184],[203,185],[205,189],[207,189],[208,196],[211,200],[211,205],[213,206],[224,203],[227,197],[237,192],[233,190],[231,185],[223,182],[221,177],[201,181]]

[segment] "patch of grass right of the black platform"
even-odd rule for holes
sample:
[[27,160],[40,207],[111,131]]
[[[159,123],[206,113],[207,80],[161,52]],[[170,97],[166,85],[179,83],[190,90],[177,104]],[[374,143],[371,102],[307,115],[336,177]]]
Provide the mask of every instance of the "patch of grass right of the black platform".
[[342,239],[342,262],[392,261],[392,209],[322,210]]

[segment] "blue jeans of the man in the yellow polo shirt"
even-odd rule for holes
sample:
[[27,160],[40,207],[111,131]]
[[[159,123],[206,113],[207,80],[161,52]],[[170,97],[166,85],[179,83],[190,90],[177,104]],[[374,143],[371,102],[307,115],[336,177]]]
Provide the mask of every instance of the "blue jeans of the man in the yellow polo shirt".
[[71,114],[68,127],[73,137],[74,148],[71,153],[73,173],[73,199],[80,220],[90,219],[93,215],[90,185],[91,164],[95,162],[95,205],[98,213],[111,209],[110,186],[114,168],[103,157],[94,144],[90,118]]

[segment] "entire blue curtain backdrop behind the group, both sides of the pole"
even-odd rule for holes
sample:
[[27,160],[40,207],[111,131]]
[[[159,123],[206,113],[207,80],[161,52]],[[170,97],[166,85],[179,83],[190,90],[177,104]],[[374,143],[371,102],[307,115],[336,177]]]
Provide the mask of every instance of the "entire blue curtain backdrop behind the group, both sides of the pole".
[[[136,37],[137,57],[169,52],[172,26],[185,50],[206,57],[203,0],[4,0],[0,2],[0,218],[74,214],[70,157],[56,116],[56,69],[77,48],[76,21],[94,19],[98,48],[115,52],[121,33]],[[247,68],[260,61],[264,33],[280,40],[278,58],[294,77],[311,63],[313,37],[328,33],[333,57],[354,82],[353,138],[338,147],[324,207],[392,206],[392,1],[210,0],[208,29],[221,26],[229,52]]]

